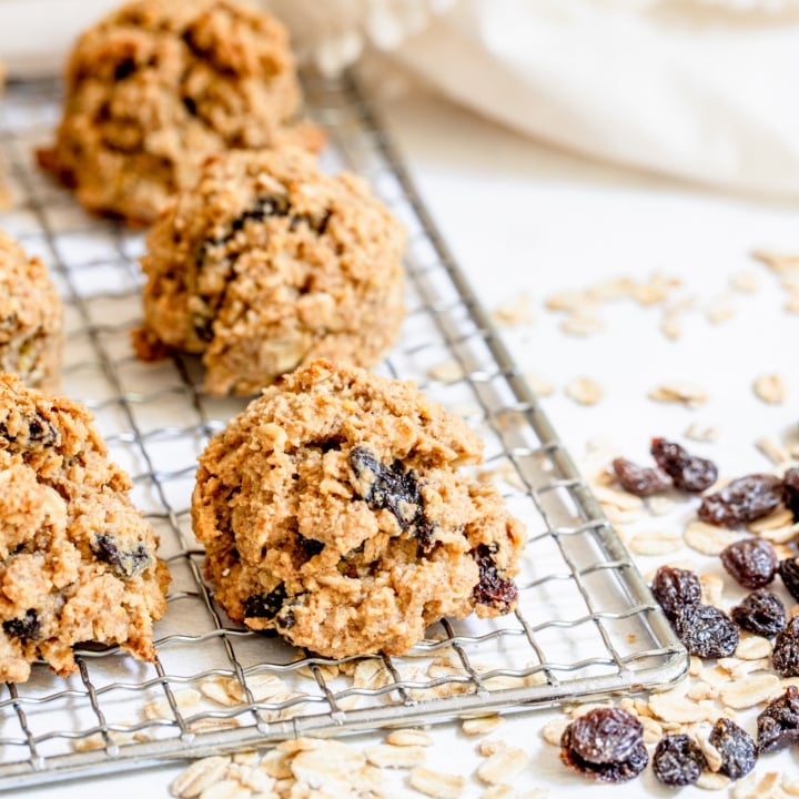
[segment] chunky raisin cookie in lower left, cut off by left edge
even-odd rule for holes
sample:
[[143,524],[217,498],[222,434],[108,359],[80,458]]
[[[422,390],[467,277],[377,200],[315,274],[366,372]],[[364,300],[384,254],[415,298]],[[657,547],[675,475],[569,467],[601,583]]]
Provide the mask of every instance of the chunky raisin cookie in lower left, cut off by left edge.
[[169,573],[130,488],[81,405],[0,376],[0,680],[87,641],[154,658]]

